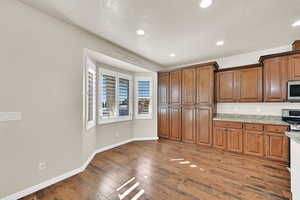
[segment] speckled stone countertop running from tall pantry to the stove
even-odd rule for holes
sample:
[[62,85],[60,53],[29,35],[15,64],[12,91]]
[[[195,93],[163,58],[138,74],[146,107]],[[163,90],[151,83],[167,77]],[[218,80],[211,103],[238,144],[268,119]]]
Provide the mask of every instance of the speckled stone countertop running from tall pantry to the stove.
[[255,124],[274,124],[285,125],[289,124],[281,120],[281,116],[266,116],[266,115],[236,115],[236,114],[221,114],[218,113],[213,120],[231,121],[242,123],[255,123]]

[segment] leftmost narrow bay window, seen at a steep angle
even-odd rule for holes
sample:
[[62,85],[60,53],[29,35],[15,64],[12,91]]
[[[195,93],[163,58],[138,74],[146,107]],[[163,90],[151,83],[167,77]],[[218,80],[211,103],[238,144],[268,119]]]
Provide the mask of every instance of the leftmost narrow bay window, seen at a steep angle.
[[86,129],[96,125],[96,65],[87,58],[86,64]]

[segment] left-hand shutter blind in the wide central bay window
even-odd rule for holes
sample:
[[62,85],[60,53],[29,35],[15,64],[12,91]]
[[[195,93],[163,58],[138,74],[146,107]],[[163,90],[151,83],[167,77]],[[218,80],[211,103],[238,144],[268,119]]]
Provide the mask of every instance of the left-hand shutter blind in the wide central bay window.
[[116,77],[102,76],[102,117],[116,115]]

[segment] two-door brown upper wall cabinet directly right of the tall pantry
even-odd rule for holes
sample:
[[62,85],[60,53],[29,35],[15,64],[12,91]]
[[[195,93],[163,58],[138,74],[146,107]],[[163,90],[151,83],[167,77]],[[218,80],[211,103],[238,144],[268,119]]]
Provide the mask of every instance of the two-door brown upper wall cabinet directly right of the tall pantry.
[[218,72],[217,97],[218,102],[261,102],[262,68],[251,66]]

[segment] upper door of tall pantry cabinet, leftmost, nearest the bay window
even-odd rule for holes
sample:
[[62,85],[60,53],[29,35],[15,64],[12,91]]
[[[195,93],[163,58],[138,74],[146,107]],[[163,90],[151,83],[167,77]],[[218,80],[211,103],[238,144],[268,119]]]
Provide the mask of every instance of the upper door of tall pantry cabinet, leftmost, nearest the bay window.
[[160,73],[158,78],[159,105],[169,103],[169,73]]

